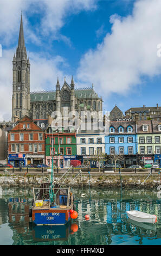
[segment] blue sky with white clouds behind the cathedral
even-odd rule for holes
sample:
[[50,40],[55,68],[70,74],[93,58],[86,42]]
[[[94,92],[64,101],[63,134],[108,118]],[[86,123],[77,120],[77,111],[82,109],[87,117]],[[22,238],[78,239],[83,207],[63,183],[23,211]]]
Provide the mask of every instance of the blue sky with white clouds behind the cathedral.
[[94,85],[105,111],[161,106],[160,0],[0,0],[1,121],[11,120],[21,13],[31,92],[73,75],[75,88]]

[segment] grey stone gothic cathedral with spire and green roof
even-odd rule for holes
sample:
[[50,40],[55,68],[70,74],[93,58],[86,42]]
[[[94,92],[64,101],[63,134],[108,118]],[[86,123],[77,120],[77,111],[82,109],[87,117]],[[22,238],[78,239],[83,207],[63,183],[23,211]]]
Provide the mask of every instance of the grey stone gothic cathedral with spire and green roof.
[[25,48],[23,22],[21,16],[20,33],[16,54],[12,61],[12,121],[15,117],[24,115],[32,119],[47,119],[53,111],[66,107],[70,111],[102,111],[102,97],[95,93],[92,87],[76,88],[73,76],[70,84],[64,81],[60,87],[57,78],[56,89],[43,92],[30,92],[30,61]]

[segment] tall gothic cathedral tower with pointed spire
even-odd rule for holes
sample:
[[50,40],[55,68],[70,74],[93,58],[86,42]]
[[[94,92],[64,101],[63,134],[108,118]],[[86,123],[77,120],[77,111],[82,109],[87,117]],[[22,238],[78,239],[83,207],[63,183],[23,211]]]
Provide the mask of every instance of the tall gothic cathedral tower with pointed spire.
[[13,58],[12,83],[12,121],[14,117],[29,116],[30,112],[30,62],[24,44],[23,22],[21,15],[20,33],[16,56]]

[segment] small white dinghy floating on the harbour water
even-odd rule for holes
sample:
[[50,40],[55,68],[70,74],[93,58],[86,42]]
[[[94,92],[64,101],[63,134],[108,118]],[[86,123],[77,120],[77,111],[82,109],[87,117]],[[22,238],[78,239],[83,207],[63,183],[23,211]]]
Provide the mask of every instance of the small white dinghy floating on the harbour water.
[[157,222],[157,216],[146,214],[146,212],[141,211],[126,211],[128,218],[131,218],[131,220],[138,221],[138,222],[144,222],[144,223],[151,223],[154,224]]

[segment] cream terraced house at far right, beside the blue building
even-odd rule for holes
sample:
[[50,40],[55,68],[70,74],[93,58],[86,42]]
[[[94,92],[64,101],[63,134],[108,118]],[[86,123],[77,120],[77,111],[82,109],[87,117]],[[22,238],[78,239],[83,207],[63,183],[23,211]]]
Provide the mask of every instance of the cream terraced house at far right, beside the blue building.
[[140,162],[159,162],[161,159],[161,123],[157,120],[137,121],[138,155]]

